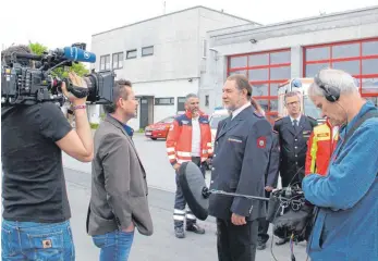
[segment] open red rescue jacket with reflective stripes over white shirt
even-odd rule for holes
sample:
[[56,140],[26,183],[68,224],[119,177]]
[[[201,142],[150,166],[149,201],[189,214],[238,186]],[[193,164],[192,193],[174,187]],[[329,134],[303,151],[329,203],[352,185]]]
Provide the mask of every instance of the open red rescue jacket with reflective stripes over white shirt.
[[[212,153],[211,130],[207,116],[199,114],[200,161]],[[174,119],[167,136],[167,153],[172,165],[192,161],[192,115],[186,112]]]

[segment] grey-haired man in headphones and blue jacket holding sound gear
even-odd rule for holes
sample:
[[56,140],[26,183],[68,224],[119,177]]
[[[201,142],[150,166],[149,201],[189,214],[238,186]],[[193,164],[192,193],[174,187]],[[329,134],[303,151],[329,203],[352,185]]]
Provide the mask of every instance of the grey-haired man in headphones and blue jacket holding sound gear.
[[327,174],[307,175],[302,183],[318,209],[308,254],[314,261],[378,260],[378,110],[340,70],[320,71],[308,95],[341,126]]

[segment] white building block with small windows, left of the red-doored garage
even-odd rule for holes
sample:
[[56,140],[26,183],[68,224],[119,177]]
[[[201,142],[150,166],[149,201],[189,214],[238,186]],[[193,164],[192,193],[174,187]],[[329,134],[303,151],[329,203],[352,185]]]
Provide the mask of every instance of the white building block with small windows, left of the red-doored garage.
[[[139,107],[130,122],[134,129],[184,110],[184,97],[198,94],[206,73],[208,30],[254,22],[195,7],[93,35],[96,71],[114,70],[117,78],[130,79]],[[99,105],[90,108],[98,122]]]

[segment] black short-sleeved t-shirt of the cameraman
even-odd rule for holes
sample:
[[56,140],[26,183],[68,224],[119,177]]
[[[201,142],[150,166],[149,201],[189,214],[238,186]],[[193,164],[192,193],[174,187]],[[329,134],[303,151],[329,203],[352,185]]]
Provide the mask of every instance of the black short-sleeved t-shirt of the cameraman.
[[50,102],[1,108],[3,219],[54,223],[71,217],[62,152],[71,129]]

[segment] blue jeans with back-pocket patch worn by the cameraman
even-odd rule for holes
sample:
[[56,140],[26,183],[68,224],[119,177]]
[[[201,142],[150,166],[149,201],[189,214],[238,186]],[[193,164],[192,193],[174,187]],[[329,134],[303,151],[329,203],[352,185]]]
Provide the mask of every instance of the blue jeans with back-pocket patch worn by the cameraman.
[[2,220],[2,260],[75,260],[70,221],[62,223]]

